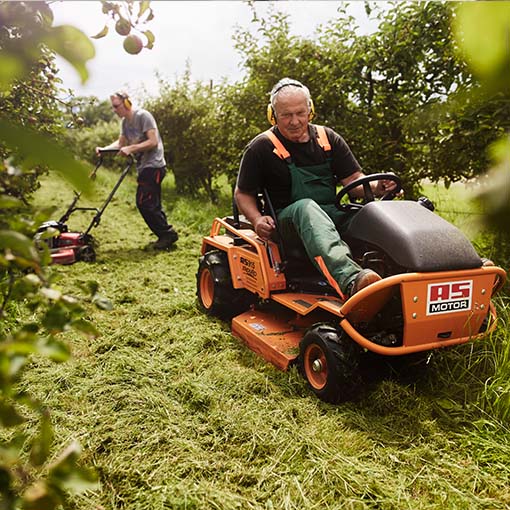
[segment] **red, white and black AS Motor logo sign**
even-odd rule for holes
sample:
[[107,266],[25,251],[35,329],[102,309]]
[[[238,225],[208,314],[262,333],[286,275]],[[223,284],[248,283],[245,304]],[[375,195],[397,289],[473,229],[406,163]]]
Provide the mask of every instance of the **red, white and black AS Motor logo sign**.
[[470,310],[472,295],[473,280],[429,283],[427,315]]

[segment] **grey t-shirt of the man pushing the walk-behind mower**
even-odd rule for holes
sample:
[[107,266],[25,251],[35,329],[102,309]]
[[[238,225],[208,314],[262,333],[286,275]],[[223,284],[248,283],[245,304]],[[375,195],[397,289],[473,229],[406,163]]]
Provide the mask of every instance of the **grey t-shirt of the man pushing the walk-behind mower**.
[[138,173],[144,168],[163,168],[166,166],[163,142],[159,135],[158,125],[152,114],[143,109],[136,110],[130,121],[125,117],[122,119],[121,133],[126,137],[128,145],[147,140],[148,137],[146,133],[149,129],[156,130],[158,145],[150,151],[135,154]]

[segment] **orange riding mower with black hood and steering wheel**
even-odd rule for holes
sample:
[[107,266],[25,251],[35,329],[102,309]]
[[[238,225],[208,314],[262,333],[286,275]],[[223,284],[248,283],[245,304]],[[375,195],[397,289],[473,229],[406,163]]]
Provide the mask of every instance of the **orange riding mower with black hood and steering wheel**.
[[[235,206],[232,216],[213,221],[202,241],[199,306],[233,317],[233,335],[277,368],[297,363],[326,402],[358,395],[365,356],[426,353],[478,340],[496,325],[491,298],[506,272],[481,259],[427,199],[374,200],[370,182],[379,179],[401,187],[393,174],[374,174],[336,197],[336,206],[352,215],[343,239],[354,259],[383,277],[345,300],[304,249],[295,254],[279,242],[263,242]],[[343,203],[357,186],[365,190],[363,201]],[[268,206],[267,197],[262,202]]]

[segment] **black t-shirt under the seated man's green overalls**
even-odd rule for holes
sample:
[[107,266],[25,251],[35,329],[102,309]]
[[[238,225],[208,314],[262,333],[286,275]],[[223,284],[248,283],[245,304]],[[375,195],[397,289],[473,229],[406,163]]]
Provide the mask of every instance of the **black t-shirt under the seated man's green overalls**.
[[[330,128],[325,128],[331,145],[331,171],[339,182],[361,170],[345,140]],[[317,131],[313,124],[308,126],[310,140],[304,143],[291,142],[283,137],[278,128],[273,133],[289,151],[292,161],[298,167],[324,163],[327,154],[317,142]],[[282,209],[291,203],[291,177],[287,163],[274,152],[271,140],[261,133],[246,147],[241,160],[237,186],[243,193],[256,194],[266,188],[275,209]]]

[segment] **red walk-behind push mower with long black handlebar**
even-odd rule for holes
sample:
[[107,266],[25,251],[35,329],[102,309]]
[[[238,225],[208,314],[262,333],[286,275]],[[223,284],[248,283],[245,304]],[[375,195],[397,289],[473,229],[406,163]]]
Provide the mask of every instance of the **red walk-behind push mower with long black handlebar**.
[[[97,170],[102,165],[103,156],[105,154],[117,154],[118,152],[118,149],[102,149],[99,152],[98,161],[94,170],[90,174],[90,178],[95,179]],[[126,175],[129,173],[133,162],[134,159],[132,156],[129,156],[126,167],[120,174],[115,186],[99,209],[97,207],[78,207],[77,203],[80,199],[81,193],[75,192],[72,202],[58,221],[46,221],[37,229],[37,233],[35,235],[36,241],[44,241],[48,245],[51,260],[54,264],[74,264],[80,260],[83,262],[94,262],[96,260],[96,243],[93,236],[90,234],[90,231],[92,228],[99,225],[104,210],[111,202]],[[93,211],[95,213],[92,221],[84,232],[69,232],[66,222],[75,211]]]

